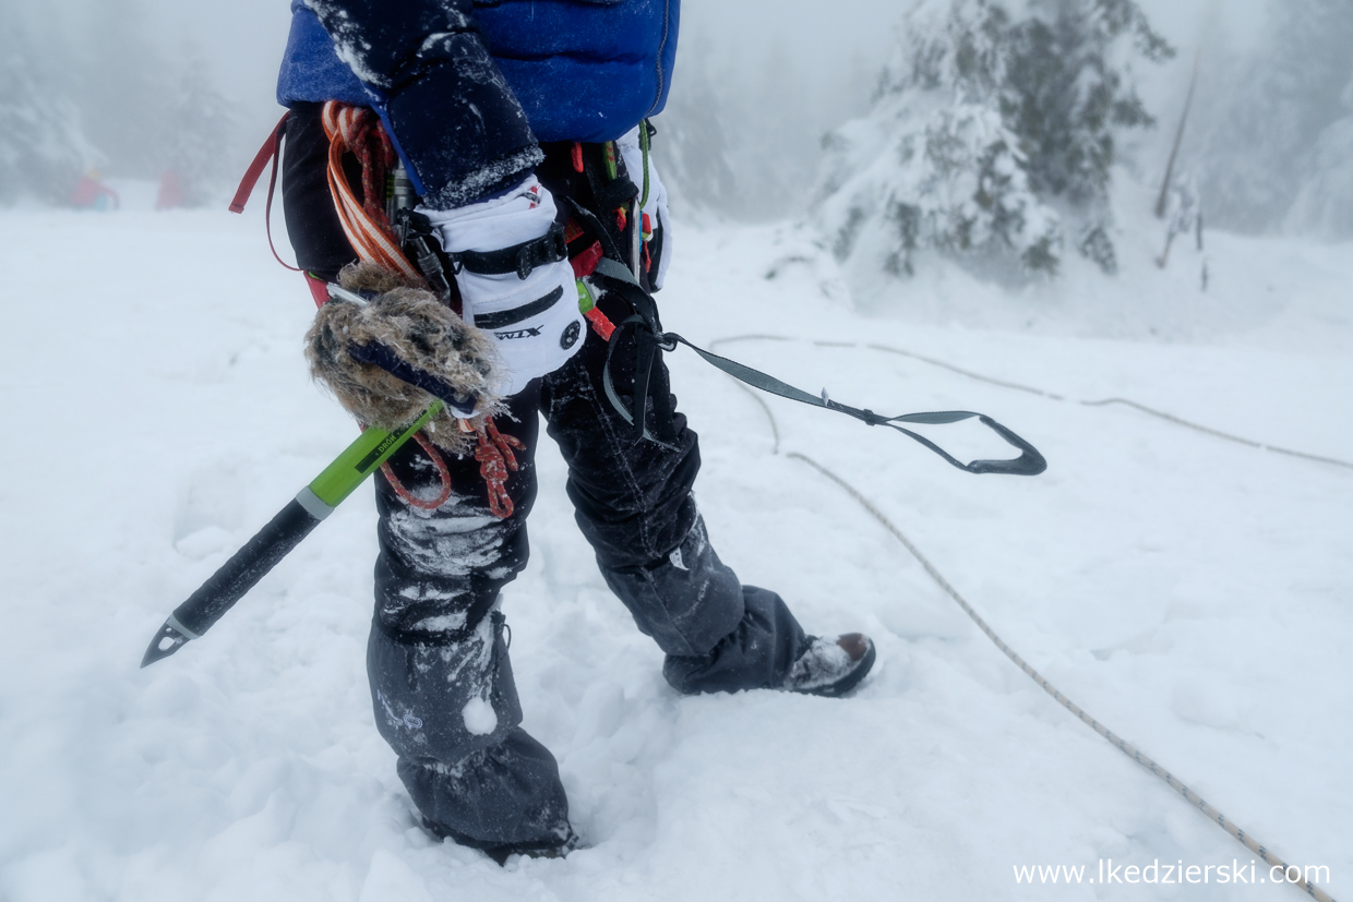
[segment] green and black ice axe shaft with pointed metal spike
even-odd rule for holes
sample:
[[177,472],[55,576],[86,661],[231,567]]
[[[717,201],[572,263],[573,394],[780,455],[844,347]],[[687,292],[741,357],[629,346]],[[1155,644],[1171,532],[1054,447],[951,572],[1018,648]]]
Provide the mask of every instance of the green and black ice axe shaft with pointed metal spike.
[[211,579],[189,595],[188,600],[175,609],[150,641],[141,667],[169,657],[188,641],[200,638],[235,602],[257,586],[277,561],[290,554],[319,525],[319,521],[329,517],[400,445],[441,412],[441,408],[442,403],[434,400],[407,426],[394,431],[384,429],[364,431],[334,458],[334,462],[277,511],[267,526],[245,542],[244,548],[222,564]]

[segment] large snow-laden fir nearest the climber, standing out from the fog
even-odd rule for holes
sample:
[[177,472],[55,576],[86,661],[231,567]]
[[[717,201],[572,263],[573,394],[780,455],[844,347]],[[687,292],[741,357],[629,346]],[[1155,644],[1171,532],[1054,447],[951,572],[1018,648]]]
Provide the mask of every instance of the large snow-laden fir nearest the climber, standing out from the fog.
[[921,0],[869,116],[825,142],[838,258],[905,275],[938,252],[1027,276],[1055,273],[1070,237],[1112,272],[1116,139],[1153,124],[1131,62],[1172,54],[1132,0]]

